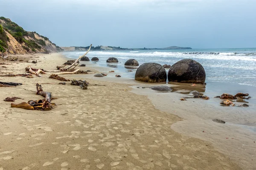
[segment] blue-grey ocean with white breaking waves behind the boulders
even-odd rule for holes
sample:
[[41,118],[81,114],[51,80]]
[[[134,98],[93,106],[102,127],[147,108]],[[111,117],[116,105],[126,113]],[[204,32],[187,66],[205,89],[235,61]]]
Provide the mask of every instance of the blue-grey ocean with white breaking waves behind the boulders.
[[[68,58],[76,59],[84,51],[63,52]],[[157,62],[173,65],[181,59],[194,59],[203,65],[206,82],[226,82],[256,87],[256,48],[190,49],[190,50],[138,50],[138,51],[90,51],[87,57],[98,57],[95,64],[113,67],[134,78],[135,72],[127,72],[124,63],[136,59],[139,64]],[[116,57],[119,63],[106,63],[108,57]],[[134,68],[136,69],[136,68]]]

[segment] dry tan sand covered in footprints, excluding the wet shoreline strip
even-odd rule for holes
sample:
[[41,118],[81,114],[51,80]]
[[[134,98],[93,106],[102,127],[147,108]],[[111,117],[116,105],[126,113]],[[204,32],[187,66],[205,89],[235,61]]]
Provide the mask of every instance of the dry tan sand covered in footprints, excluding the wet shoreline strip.
[[[1,65],[1,74],[23,74],[29,64],[53,70],[66,61],[60,54],[28,55],[27,59],[37,59],[38,64],[6,62],[11,65]],[[241,169],[210,142],[172,130],[173,123],[182,119],[157,110],[146,96],[132,93],[129,85],[98,81],[92,77],[95,72],[89,74],[62,77],[105,86],[81,90],[69,82],[58,85],[60,81],[49,75],[0,77],[2,82],[23,83],[0,88],[0,170]],[[57,108],[29,111],[3,101],[12,96],[23,98],[15,103],[42,99],[35,95],[37,82],[54,83],[42,87],[58,98],[52,101]]]

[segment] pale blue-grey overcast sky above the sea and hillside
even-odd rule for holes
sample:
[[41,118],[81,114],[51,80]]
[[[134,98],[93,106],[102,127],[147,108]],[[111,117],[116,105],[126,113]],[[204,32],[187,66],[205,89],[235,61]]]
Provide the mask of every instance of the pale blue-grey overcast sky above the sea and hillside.
[[256,47],[256,0],[0,0],[0,16],[59,46]]

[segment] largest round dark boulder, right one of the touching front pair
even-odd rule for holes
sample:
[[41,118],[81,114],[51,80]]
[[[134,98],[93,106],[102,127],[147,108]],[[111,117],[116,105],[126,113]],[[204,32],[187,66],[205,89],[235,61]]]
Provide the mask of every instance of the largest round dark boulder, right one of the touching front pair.
[[168,71],[169,82],[203,84],[205,77],[203,66],[193,59],[182,59],[172,65]]

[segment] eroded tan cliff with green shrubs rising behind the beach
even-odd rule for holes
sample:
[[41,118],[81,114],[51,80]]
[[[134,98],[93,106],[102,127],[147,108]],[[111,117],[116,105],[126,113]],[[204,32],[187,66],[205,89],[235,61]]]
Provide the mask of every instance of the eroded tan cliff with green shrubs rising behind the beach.
[[51,53],[63,51],[47,37],[25,31],[10,19],[0,17],[0,51],[10,54]]

